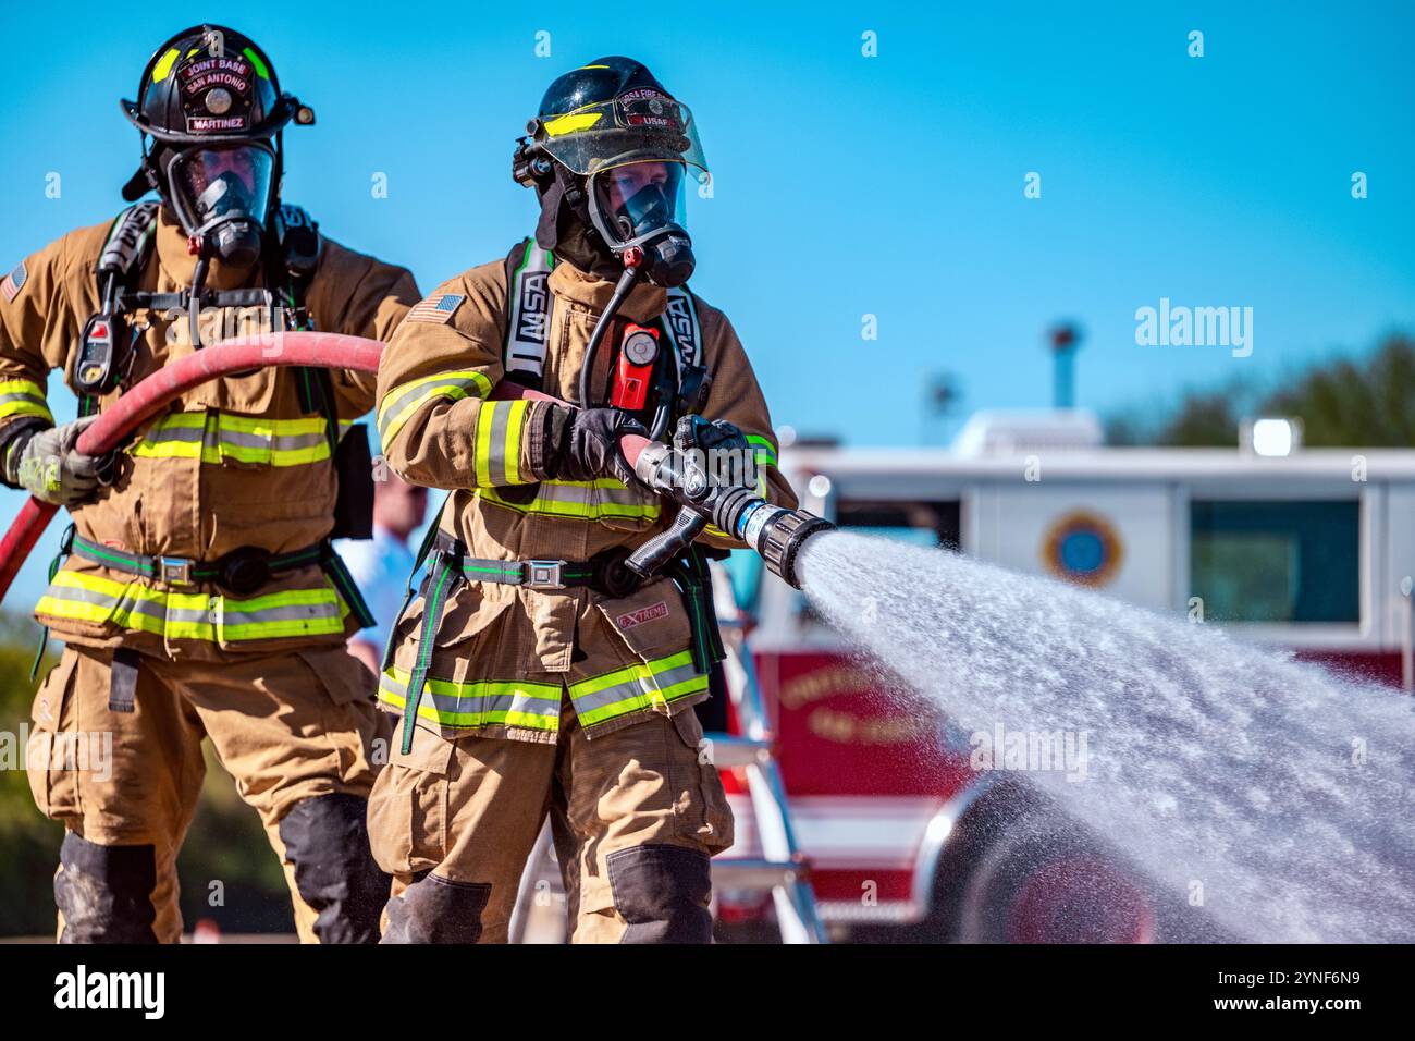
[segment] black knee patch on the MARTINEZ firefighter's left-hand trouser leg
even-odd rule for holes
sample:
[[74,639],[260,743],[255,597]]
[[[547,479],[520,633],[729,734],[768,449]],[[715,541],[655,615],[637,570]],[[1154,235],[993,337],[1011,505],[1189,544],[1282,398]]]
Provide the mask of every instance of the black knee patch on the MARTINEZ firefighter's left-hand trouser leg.
[[59,847],[54,902],[64,915],[59,943],[156,943],[157,850],[99,846],[68,831]]

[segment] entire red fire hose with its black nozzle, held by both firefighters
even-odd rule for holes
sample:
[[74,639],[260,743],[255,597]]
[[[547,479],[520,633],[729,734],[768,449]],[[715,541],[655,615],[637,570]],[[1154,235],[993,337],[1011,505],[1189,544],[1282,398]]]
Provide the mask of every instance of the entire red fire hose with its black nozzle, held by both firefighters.
[[[376,372],[383,344],[376,340],[340,333],[291,331],[228,340],[178,358],[139,382],[83,431],[76,449],[93,456],[117,449],[147,419],[209,380],[263,365]],[[492,397],[501,401],[559,401],[509,381],[499,382]],[[750,489],[705,480],[700,473],[685,467],[681,455],[662,442],[625,435],[620,450],[640,480],[681,507],[666,531],[635,550],[624,562],[640,578],[654,574],[710,523],[747,542],[774,575],[799,588],[795,559],[801,545],[811,535],[833,527],[804,510],[773,506]],[[0,540],[0,601],[57,511],[58,507],[51,503],[30,499]]]

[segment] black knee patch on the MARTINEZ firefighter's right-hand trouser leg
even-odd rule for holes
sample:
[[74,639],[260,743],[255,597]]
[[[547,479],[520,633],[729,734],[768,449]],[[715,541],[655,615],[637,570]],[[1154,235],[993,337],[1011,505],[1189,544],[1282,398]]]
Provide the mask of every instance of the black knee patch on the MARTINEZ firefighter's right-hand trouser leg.
[[294,888],[317,914],[320,943],[378,943],[391,880],[368,848],[368,802],[337,792],[306,799],[280,820]]

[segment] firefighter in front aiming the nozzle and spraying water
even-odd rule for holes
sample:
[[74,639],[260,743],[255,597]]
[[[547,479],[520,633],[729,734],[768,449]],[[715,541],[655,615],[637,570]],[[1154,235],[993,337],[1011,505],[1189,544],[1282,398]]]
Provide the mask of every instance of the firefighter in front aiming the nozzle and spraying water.
[[683,285],[708,169],[688,108],[603,58],[550,85],[512,167],[535,237],[439,286],[379,365],[391,466],[450,490],[379,681],[400,717],[369,799],[383,942],[505,940],[546,816],[576,942],[706,942],[733,829],[693,711],[722,656],[706,558],[741,542],[709,527],[635,574],[675,513],[617,442],[794,497],[732,324]]

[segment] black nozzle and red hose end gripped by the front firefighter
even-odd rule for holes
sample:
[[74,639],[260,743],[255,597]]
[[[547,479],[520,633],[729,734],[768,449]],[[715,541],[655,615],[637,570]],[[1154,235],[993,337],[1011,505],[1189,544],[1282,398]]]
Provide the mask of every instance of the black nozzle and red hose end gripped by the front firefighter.
[[[521,384],[502,380],[491,397],[497,401],[563,401],[541,391],[532,391]],[[710,523],[733,538],[746,542],[766,562],[771,574],[799,589],[797,558],[801,547],[812,535],[835,528],[831,521],[805,510],[788,510],[774,506],[746,487],[695,486],[678,472],[679,460],[674,450],[651,438],[625,433],[620,438],[620,452],[649,489],[678,503],[679,511],[666,531],[659,533],[625,561],[625,565],[640,578],[658,571],[659,567],[685,550],[693,538]],[[689,493],[693,494],[689,494]]]

